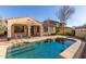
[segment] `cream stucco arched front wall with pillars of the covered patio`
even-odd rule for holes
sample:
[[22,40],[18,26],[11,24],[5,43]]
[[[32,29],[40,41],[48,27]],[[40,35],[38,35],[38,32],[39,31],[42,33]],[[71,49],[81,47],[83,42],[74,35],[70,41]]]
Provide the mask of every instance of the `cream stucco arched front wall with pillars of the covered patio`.
[[30,36],[30,26],[37,25],[40,26],[40,35],[42,35],[42,26],[40,23],[36,22],[34,18],[30,17],[19,17],[19,18],[10,18],[8,20],[8,37],[12,37],[13,28],[12,25],[14,24],[23,24],[28,27],[28,36]]

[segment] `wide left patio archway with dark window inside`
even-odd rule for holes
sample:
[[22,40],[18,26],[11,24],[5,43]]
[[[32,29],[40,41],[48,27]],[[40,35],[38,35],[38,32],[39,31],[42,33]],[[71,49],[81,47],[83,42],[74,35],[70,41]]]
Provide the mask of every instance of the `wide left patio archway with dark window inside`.
[[11,26],[12,38],[28,37],[28,26],[24,24],[13,24]]

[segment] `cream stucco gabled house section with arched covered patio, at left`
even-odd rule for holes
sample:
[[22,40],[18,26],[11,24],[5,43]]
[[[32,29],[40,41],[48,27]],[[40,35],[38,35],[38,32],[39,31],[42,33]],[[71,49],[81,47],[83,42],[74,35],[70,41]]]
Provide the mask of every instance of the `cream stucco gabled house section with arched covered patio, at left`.
[[42,25],[30,17],[8,20],[8,38],[42,36]]

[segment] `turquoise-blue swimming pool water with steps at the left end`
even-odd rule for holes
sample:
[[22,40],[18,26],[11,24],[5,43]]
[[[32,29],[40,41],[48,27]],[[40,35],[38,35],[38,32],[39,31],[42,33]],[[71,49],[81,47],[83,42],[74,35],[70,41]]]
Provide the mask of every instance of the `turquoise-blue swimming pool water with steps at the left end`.
[[26,46],[10,49],[8,59],[60,59],[60,53],[69,48],[74,41],[39,41]]

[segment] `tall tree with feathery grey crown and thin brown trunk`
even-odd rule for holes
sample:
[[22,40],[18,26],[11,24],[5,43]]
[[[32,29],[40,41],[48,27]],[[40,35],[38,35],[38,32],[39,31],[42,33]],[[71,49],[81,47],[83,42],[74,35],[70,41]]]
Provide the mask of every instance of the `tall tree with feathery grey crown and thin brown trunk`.
[[70,5],[63,5],[59,10],[58,18],[60,21],[60,26],[62,34],[64,35],[64,26],[66,25],[66,21],[71,17],[71,15],[74,13],[75,9]]

